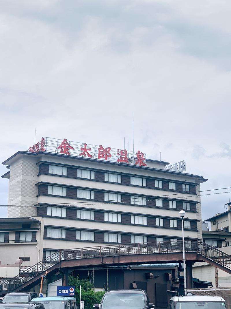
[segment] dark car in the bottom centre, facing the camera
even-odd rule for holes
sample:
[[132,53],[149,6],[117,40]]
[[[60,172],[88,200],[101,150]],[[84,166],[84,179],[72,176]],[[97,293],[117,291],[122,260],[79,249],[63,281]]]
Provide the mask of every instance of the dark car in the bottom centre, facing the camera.
[[148,309],[154,304],[149,303],[144,290],[114,290],[107,291],[100,304],[94,304],[95,309]]

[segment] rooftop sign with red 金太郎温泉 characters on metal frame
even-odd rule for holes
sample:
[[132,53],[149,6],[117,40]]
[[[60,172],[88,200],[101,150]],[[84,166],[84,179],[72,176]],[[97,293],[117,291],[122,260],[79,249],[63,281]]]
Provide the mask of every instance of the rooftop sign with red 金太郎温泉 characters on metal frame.
[[27,151],[39,152],[45,151],[50,153],[71,155],[75,157],[105,160],[107,162],[117,162],[133,164],[138,166],[147,166],[146,154],[138,150],[130,152],[126,149],[115,149],[102,145],[91,145],[87,143],[72,142],[67,138],[41,138],[41,141],[30,147]]

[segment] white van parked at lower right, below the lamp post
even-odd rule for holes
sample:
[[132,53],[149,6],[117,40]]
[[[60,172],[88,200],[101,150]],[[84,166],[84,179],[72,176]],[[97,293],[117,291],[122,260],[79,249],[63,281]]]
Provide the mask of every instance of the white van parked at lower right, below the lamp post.
[[225,299],[216,296],[174,296],[169,309],[227,309]]

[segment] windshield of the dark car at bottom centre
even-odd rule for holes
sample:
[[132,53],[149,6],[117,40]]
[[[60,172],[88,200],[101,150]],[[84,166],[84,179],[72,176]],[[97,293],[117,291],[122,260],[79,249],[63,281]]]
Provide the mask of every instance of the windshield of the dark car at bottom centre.
[[103,298],[102,309],[143,309],[144,295],[136,293],[106,294]]

